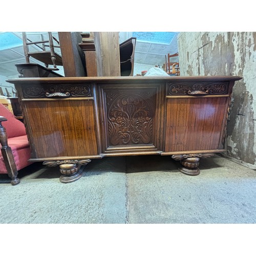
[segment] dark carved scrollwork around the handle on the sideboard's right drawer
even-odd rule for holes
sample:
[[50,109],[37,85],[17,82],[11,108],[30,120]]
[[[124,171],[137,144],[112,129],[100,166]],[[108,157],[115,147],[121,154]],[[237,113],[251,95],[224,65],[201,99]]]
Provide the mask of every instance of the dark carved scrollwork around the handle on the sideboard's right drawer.
[[224,82],[215,83],[181,83],[169,82],[168,95],[187,95],[188,91],[202,91],[207,92],[209,95],[221,95],[228,93],[228,84]]

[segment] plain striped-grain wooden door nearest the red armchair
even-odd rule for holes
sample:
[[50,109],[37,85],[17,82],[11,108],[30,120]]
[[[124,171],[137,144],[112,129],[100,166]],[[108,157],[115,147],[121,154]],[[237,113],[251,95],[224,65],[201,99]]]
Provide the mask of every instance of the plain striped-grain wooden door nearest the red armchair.
[[37,158],[97,155],[93,100],[25,103]]

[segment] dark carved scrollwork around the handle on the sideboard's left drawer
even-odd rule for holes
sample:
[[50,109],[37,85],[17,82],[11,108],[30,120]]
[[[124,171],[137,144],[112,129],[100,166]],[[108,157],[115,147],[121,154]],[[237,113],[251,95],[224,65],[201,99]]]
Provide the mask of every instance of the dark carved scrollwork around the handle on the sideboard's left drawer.
[[91,83],[86,84],[40,84],[24,85],[24,98],[45,98],[46,94],[69,93],[71,97],[92,97]]

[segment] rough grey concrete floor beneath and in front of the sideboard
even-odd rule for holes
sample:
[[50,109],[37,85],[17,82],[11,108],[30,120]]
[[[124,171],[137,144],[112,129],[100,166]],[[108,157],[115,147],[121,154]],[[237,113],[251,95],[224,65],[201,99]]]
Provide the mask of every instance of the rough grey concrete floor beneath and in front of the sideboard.
[[92,160],[79,180],[59,182],[58,167],[0,177],[0,223],[228,224],[256,222],[256,170],[220,156],[201,159],[198,176],[169,156]]

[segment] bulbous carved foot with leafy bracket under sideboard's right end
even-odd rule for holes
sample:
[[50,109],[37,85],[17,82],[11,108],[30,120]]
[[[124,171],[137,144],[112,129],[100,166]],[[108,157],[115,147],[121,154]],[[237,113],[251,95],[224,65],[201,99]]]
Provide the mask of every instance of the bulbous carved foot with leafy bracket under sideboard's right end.
[[174,160],[180,160],[183,167],[179,168],[179,171],[186,175],[196,176],[200,174],[199,161],[200,158],[212,157],[214,154],[190,154],[190,155],[174,155]]

